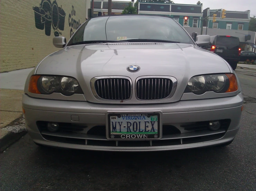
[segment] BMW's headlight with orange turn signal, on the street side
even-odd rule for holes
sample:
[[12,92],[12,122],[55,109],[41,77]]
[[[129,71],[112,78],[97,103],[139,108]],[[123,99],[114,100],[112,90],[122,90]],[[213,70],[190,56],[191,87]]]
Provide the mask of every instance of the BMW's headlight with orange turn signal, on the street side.
[[213,74],[192,77],[184,93],[194,93],[196,95],[205,92],[235,92],[238,90],[236,76],[234,74]]

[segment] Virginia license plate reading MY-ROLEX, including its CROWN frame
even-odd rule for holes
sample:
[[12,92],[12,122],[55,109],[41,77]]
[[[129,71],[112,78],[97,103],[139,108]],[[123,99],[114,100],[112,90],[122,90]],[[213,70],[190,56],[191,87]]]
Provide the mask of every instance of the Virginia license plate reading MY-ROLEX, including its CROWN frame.
[[107,138],[111,140],[160,139],[161,113],[109,113]]

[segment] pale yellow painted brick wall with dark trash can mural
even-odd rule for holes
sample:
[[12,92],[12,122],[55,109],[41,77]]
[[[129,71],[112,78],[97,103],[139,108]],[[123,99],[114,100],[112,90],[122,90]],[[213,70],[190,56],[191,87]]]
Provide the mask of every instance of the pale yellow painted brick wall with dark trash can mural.
[[[0,0],[0,72],[34,67],[87,18],[86,0]],[[42,9],[41,9],[42,8]]]

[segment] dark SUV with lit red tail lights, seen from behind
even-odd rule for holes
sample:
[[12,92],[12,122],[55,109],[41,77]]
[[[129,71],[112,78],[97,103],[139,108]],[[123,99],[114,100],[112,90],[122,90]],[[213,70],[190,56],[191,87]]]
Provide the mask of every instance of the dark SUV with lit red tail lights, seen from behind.
[[233,70],[236,69],[241,54],[238,37],[220,35],[211,36],[208,50],[225,59]]

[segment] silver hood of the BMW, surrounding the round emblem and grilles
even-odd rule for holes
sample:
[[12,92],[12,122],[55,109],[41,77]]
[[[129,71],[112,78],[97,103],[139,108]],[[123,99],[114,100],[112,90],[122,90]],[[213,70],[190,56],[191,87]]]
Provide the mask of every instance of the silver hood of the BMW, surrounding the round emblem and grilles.
[[[127,70],[130,65],[137,65],[140,70],[131,73]],[[174,43],[68,46],[47,56],[36,69],[36,74],[76,78],[86,99],[95,103],[104,101],[92,94],[90,80],[93,77],[127,76],[134,86],[136,78],[140,76],[173,76],[177,79],[176,92],[170,100],[163,102],[175,102],[182,97],[191,77],[212,73],[230,73],[230,69],[221,57],[207,50],[195,45]],[[130,102],[137,103],[135,98]]]

